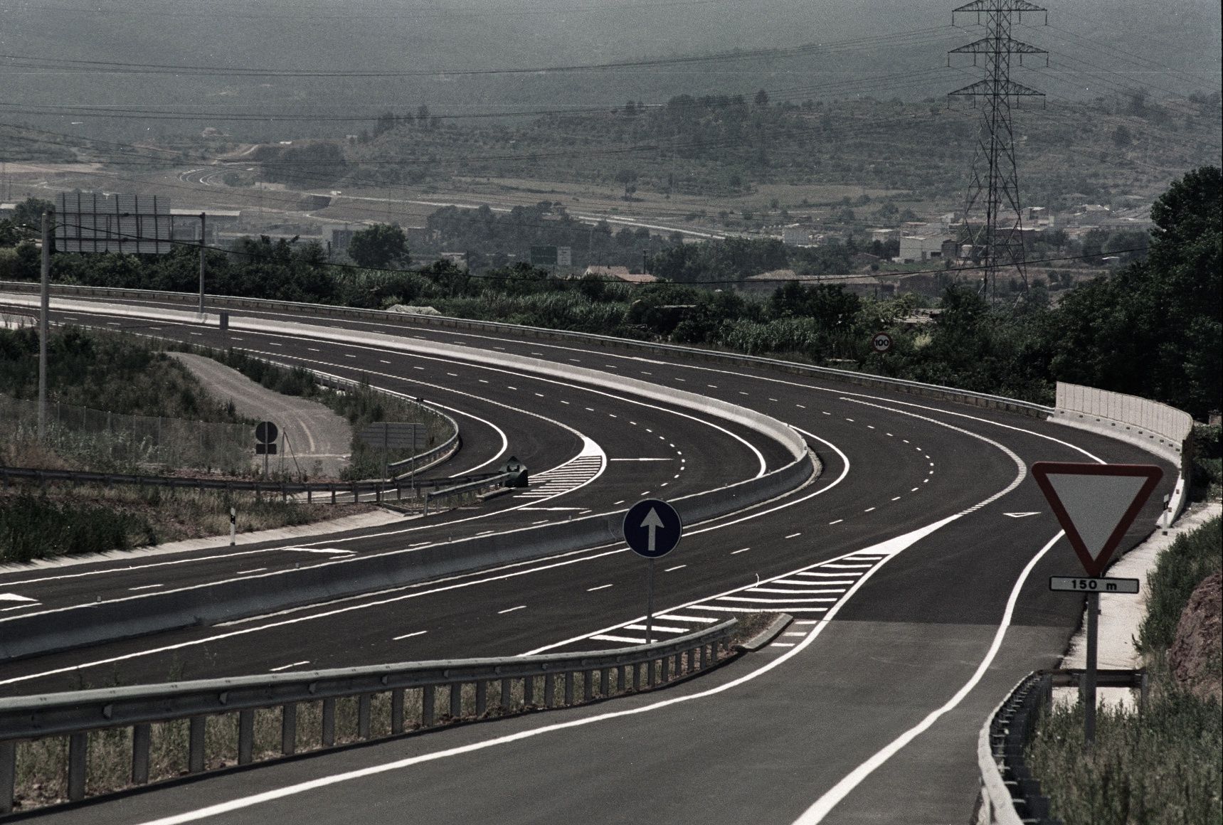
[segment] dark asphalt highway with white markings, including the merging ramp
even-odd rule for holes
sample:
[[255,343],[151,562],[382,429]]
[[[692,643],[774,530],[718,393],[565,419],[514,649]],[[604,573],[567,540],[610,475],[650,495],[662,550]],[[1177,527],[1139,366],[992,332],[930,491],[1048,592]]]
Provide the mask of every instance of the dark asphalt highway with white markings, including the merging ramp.
[[[775,442],[748,428],[630,392],[342,343],[325,332],[309,340],[275,331],[274,321],[308,321],[400,336],[413,346],[459,345],[473,359],[505,352],[632,376],[794,427],[818,455],[819,478],[689,526],[658,567],[657,625],[663,633],[687,632],[757,609],[791,612],[796,622],[766,650],[667,691],[192,782],[50,821],[152,821],[213,804],[227,807],[208,821],[232,823],[307,815],[341,823],[356,810],[412,810],[419,821],[437,823],[533,823],[565,814],[790,823],[813,804],[802,821],[826,814],[823,821],[838,823],[964,821],[976,792],[981,721],[1020,676],[1055,661],[1082,609],[1080,598],[1047,589],[1048,576],[1074,573],[1077,561],[1058,540],[1027,467],[1161,463],[1156,504],[1140,516],[1126,548],[1148,532],[1177,475],[1151,455],[1091,433],[768,368],[410,321],[258,315],[267,331],[231,330],[241,339],[231,346],[340,375],[363,373],[378,386],[478,416],[504,431],[509,451],[532,469],[583,457],[593,468],[591,457],[602,455],[599,469],[555,485],[554,496],[504,496],[478,511],[404,527],[237,549],[248,555],[219,546],[172,560],[64,568],[81,573],[71,579],[46,570],[6,572],[0,590],[34,594],[42,610],[258,567],[267,570],[246,574],[292,565],[331,565],[339,574],[355,556],[410,552],[418,541],[444,540],[443,533],[451,539],[613,512],[646,495],[708,490],[785,461]],[[71,318],[220,343],[215,328],[141,321],[106,308],[75,309],[65,314]],[[465,434],[468,425],[460,419]],[[456,468],[503,455],[493,429],[482,431],[470,447],[475,457],[465,442]],[[561,507],[571,510],[553,510]],[[640,559],[608,544],[224,627],[9,662],[0,669],[0,691],[612,648],[641,638],[643,576]],[[252,797],[263,791],[274,791],[273,798]]]

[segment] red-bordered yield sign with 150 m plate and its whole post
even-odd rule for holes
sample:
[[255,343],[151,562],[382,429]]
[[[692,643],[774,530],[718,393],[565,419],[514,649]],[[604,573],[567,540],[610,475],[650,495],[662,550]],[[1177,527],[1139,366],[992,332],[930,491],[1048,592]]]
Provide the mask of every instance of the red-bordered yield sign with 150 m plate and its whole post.
[[1163,477],[1153,464],[1084,464],[1038,461],[1032,477],[1053,507],[1086,578],[1054,576],[1051,590],[1087,594],[1087,662],[1082,682],[1084,741],[1096,739],[1096,650],[1099,634],[1099,594],[1137,593],[1137,579],[1101,578],[1113,551],[1125,538]]

